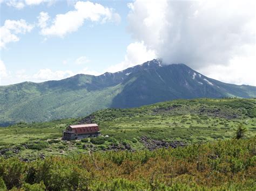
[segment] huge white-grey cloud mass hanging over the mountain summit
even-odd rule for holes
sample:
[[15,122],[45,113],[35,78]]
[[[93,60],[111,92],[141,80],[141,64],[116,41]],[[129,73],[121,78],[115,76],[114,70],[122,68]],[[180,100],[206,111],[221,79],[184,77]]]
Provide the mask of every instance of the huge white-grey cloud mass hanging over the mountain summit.
[[[240,58],[248,69],[255,66],[255,56],[246,59],[252,51],[255,54],[255,1],[136,0],[129,8],[132,37],[144,41],[166,63],[185,63],[197,70],[233,66],[238,71],[244,63],[233,62]],[[246,78],[227,75],[239,77],[236,83],[255,79],[251,73]]]

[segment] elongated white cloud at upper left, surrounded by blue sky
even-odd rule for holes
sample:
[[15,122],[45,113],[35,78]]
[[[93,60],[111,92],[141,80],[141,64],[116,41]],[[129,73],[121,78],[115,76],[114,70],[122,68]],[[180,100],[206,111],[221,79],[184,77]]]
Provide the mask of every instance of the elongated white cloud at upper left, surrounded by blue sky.
[[113,9],[105,8],[101,4],[79,1],[75,4],[75,10],[56,15],[50,26],[46,25],[48,20],[48,14],[41,12],[38,17],[41,34],[43,36],[64,37],[68,33],[77,31],[85,20],[100,23],[119,22],[120,16]]

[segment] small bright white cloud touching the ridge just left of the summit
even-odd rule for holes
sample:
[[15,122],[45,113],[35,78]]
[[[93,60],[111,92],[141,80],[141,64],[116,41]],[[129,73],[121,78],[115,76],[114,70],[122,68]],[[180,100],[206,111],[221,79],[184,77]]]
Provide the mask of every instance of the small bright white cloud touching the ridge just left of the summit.
[[118,72],[120,70],[152,60],[154,58],[157,58],[156,53],[152,49],[147,48],[143,41],[140,43],[131,43],[127,46],[124,61],[110,66],[106,70],[107,72]]

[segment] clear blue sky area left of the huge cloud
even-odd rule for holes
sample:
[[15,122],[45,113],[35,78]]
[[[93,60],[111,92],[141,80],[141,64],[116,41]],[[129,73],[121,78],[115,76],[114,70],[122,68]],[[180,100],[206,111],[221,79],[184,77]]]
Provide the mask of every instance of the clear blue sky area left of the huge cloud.
[[[76,74],[87,67],[95,73],[103,73],[113,63],[121,62],[124,59],[126,47],[132,41],[126,30],[128,2],[92,2],[98,2],[114,9],[115,12],[118,12],[120,21],[102,24],[86,20],[77,31],[68,33],[64,37],[42,36],[41,29],[36,26],[37,17],[40,12],[44,11],[54,18],[57,14],[65,14],[74,10],[74,4],[58,1],[52,5],[42,3],[17,9],[2,3],[1,26],[8,19],[24,19],[27,23],[35,25],[31,32],[19,34],[19,41],[8,43],[1,49],[1,60],[5,64],[6,70],[12,73],[25,70],[26,75],[33,75],[40,69],[49,68],[52,71],[70,70]],[[76,60],[82,56],[89,61],[80,65],[76,64]],[[35,81],[37,80],[35,79]],[[14,80],[13,82],[19,81]],[[9,81],[5,83],[9,83]]]

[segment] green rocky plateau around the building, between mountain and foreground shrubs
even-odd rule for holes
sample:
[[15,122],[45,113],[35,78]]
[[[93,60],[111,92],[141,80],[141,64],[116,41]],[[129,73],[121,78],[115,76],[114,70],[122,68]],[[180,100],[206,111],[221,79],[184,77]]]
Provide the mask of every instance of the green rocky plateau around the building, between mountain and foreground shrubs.
[[[231,139],[239,124],[245,126],[249,138],[256,135],[255,106],[254,99],[201,98],[140,108],[99,110],[85,118],[19,123],[0,128],[0,152],[5,157],[31,160],[88,151],[154,150]],[[66,126],[92,122],[99,125],[102,137],[78,142],[60,140]]]

